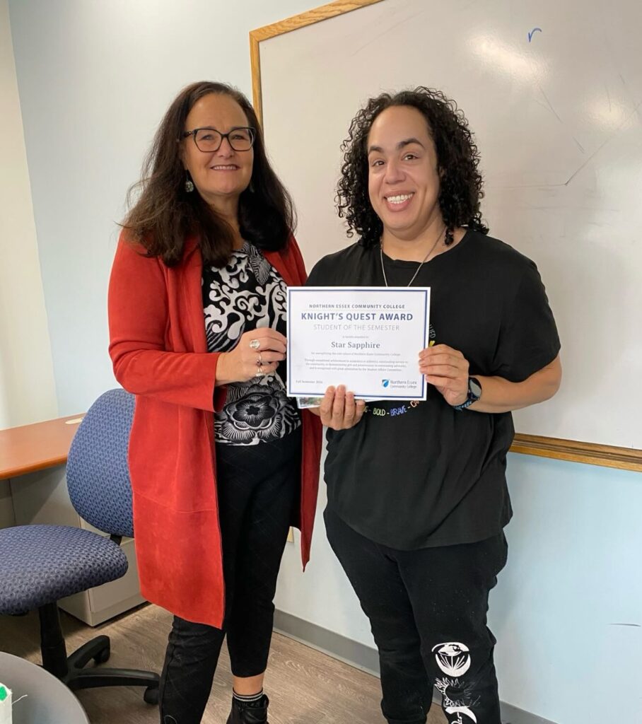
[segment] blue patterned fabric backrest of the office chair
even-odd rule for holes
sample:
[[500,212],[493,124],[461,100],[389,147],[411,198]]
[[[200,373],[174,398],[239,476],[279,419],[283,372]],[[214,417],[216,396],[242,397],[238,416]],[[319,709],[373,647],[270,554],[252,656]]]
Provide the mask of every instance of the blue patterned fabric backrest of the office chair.
[[127,464],[134,396],[108,390],[89,408],[67,458],[67,487],[78,515],[98,530],[133,536]]

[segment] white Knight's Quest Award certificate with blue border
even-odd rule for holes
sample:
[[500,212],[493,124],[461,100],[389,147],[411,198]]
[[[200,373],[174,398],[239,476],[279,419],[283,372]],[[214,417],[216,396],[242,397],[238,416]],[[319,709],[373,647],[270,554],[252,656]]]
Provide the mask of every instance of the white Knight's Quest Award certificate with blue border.
[[287,394],[425,400],[428,287],[288,287]]

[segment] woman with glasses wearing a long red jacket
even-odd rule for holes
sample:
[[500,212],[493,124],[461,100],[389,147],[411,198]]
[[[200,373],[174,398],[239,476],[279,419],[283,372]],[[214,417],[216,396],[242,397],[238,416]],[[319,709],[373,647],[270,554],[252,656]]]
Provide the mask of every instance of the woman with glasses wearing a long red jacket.
[[194,83],[161,122],[109,285],[141,592],[174,613],[161,724],[197,724],[224,636],[228,724],[267,721],[263,673],[290,524],[308,560],[321,426],[285,394],[292,203],[239,91]]

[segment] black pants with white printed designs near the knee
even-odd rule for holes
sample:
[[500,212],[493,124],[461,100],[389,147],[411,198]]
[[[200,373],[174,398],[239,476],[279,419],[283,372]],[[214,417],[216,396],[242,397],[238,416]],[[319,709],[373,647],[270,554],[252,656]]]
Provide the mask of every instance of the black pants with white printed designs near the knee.
[[506,563],[504,534],[400,551],[364,538],[329,509],[324,518],[332,550],[370,619],[389,724],[425,724],[433,686],[442,692],[449,724],[500,724],[486,612]]

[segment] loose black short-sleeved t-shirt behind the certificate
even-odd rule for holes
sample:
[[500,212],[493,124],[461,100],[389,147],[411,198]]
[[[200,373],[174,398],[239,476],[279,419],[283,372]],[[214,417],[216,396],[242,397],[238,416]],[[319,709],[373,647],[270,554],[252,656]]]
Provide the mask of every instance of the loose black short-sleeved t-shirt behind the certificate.
[[[384,265],[391,287],[405,287],[418,266],[385,255]],[[322,258],[307,283],[384,286],[379,245]],[[460,350],[472,376],[521,382],[559,352],[535,264],[497,239],[469,230],[423,265],[415,286],[431,287],[431,344]],[[368,403],[352,429],[328,430],[329,506],[397,550],[489,538],[512,515],[505,468],[514,432],[510,413],[456,411],[432,386],[425,402]]]

